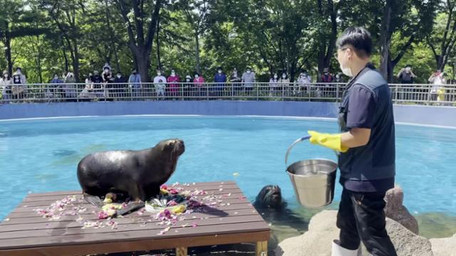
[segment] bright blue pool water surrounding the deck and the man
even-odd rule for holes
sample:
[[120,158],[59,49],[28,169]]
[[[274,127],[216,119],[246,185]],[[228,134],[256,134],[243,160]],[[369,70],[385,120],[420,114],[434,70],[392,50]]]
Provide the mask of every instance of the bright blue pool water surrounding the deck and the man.
[[[235,180],[250,200],[281,186],[298,208],[285,173],[287,147],[308,129],[336,132],[333,121],[261,117],[90,117],[0,122],[0,220],[27,193],[76,190],[78,161],[93,151],[144,149],[178,137],[186,151],[169,183]],[[414,214],[456,215],[456,129],[398,125],[397,178]],[[335,156],[303,142],[290,162]],[[239,174],[235,176],[234,173]],[[336,198],[341,187],[337,186]]]

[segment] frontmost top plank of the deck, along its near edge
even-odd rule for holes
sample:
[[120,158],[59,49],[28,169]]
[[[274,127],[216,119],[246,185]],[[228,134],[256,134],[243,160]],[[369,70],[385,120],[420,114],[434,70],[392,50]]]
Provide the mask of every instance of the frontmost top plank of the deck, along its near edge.
[[[177,232],[175,232],[177,230]],[[195,228],[175,228],[166,233],[163,238],[189,238],[199,237],[202,235],[222,235],[233,233],[259,232],[268,231],[269,226],[264,223],[264,220],[251,223],[234,223],[222,225],[207,225],[197,226]],[[155,234],[153,234],[155,235]],[[153,237],[150,230],[111,232],[100,234],[86,235],[65,235],[63,237],[38,237],[38,238],[12,238],[0,240],[1,249],[19,249],[26,247],[43,247],[56,245],[81,245],[81,244],[96,244],[98,242],[123,242],[144,240]],[[160,239],[155,236],[155,239]]]

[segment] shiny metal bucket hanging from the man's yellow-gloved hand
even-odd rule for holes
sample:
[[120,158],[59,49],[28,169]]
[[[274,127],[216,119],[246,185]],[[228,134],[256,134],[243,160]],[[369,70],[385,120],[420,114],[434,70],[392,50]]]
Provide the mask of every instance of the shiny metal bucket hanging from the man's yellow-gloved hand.
[[[285,165],[291,148],[310,137],[297,139],[289,146]],[[306,208],[328,206],[334,198],[337,164],[328,159],[297,161],[286,168],[299,203]]]

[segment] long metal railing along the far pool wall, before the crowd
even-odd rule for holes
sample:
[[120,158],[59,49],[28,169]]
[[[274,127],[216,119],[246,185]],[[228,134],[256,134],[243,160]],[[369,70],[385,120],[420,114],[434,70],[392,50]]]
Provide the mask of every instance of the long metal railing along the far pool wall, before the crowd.
[[[0,103],[117,100],[341,100],[345,83],[28,84],[1,88]],[[395,104],[455,105],[456,85],[390,85]]]

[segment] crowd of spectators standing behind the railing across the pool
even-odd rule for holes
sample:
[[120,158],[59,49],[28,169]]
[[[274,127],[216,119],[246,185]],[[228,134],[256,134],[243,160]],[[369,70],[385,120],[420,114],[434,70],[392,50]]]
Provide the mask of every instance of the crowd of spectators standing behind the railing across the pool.
[[[413,73],[412,67],[406,65],[397,75],[401,84],[413,84],[417,76]],[[228,74],[224,73],[222,67],[217,68],[217,72],[212,79],[205,80],[200,73],[179,75],[174,69],[166,75],[164,70],[157,69],[152,82],[144,82],[136,69],[133,69],[128,77],[120,71],[113,73],[108,63],[103,66],[100,74],[98,70],[86,75],[83,85],[76,82],[73,73],[68,72],[59,76],[53,74],[53,78],[43,89],[45,99],[63,99],[65,101],[84,101],[84,100],[124,100],[140,99],[141,97],[155,98],[162,100],[165,98],[177,99],[179,97],[195,99],[204,97],[222,97],[229,88],[232,95],[249,95],[254,87],[261,87],[270,97],[338,97],[338,84],[345,82],[343,75],[337,73],[333,75],[328,68],[323,69],[323,73],[315,80],[311,75],[303,70],[295,81],[291,82],[289,74],[286,72],[274,73],[269,79],[269,83],[257,83],[257,78],[252,68],[247,67],[244,72],[238,73],[233,68]],[[207,82],[209,81],[209,82]],[[314,82],[320,82],[318,86]],[[416,95],[423,94],[427,100],[445,100],[446,84],[445,73],[436,70],[428,79],[431,86],[405,87],[398,93],[398,100],[420,100]],[[4,70],[0,78],[1,100],[9,102],[14,100],[26,99],[28,88],[26,76],[21,68],[16,68],[13,75]],[[418,92],[418,93],[417,93]],[[340,93],[340,92],[339,92]],[[415,96],[413,96],[415,95]]]

